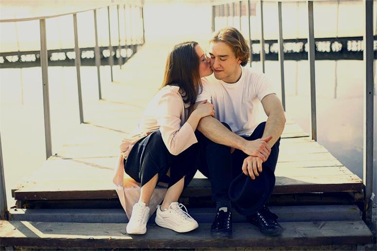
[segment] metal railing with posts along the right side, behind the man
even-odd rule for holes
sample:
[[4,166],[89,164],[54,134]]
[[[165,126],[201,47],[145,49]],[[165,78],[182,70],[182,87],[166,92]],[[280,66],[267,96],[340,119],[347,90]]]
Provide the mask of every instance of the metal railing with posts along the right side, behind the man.
[[[307,18],[308,18],[308,64],[309,64],[309,76],[310,76],[310,137],[317,141],[317,111],[316,111],[316,81],[315,81],[315,38],[314,38],[314,20],[313,20],[313,2],[323,0],[264,0],[269,2],[275,2],[278,12],[278,60],[280,65],[280,79],[282,90],[282,103],[284,110],[286,110],[286,97],[285,97],[285,80],[284,80],[284,39],[282,31],[282,3],[292,1],[304,1],[306,2]],[[251,40],[251,19],[250,19],[250,7],[251,2],[259,3],[260,9],[260,62],[262,64],[262,70],[265,72],[265,40],[263,33],[263,0],[246,0],[246,16],[248,17],[249,27],[249,44],[250,44],[250,67],[252,62],[252,40]],[[346,1],[346,0],[339,0]],[[241,28],[241,3],[239,4],[239,21]],[[364,105],[363,105],[363,182],[365,185],[365,205],[364,205],[364,218],[367,222],[371,220],[372,215],[372,192],[373,192],[373,60],[374,60],[374,48],[373,48],[373,0],[360,0],[363,3],[363,21],[364,21],[364,35],[363,35],[363,61],[365,65],[365,88],[364,88]],[[232,4],[234,10],[233,0],[212,0],[212,32],[215,32],[215,17],[216,12],[221,13],[221,16],[229,17],[229,8]],[[216,11],[217,9],[217,11]],[[225,11],[226,10],[226,11]],[[226,15],[225,15],[226,13]],[[234,11],[232,14],[234,17]],[[234,19],[233,19],[234,20]],[[227,19],[228,25],[228,19]]]

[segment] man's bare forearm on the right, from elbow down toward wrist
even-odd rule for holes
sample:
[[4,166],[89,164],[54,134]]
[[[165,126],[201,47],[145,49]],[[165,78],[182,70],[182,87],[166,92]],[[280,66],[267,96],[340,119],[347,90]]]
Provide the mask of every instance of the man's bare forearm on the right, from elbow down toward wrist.
[[267,143],[270,148],[276,143],[281,134],[283,133],[286,124],[286,117],[283,114],[276,113],[270,114],[266,122],[265,131],[262,138],[272,136],[272,139]]

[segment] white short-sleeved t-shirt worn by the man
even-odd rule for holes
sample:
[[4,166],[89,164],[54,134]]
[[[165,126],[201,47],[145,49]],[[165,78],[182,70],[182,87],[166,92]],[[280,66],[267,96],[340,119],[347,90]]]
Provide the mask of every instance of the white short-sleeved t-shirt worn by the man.
[[241,69],[241,78],[234,84],[227,84],[214,76],[202,78],[203,91],[197,101],[211,102],[220,122],[227,123],[235,134],[250,136],[267,118],[261,101],[276,91],[264,73],[257,73],[250,67]]

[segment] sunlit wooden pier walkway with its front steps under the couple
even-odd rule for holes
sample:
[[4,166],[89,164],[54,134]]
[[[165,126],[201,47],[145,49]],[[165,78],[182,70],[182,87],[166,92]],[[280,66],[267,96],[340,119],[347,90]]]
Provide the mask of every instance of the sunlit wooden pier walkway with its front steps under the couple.
[[155,226],[152,217],[146,235],[127,235],[126,215],[112,184],[118,145],[157,91],[169,49],[145,44],[122,70],[114,71],[114,83],[103,86],[105,100],[87,104],[85,123],[67,135],[60,151],[12,189],[17,208],[11,210],[10,221],[1,221],[2,246],[356,249],[372,242],[357,206],[363,202],[362,180],[289,119],[270,202],[285,228],[281,236],[262,236],[235,215],[232,239],[211,238],[211,187],[199,172],[181,199],[198,219],[198,230],[177,234]]

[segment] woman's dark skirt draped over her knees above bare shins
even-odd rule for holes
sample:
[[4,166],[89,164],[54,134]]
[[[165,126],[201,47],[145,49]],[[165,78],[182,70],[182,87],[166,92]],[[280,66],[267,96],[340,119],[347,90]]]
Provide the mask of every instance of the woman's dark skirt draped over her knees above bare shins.
[[[198,163],[198,144],[190,146],[178,155],[171,154],[160,130],[141,138],[133,146],[125,162],[126,173],[141,186],[158,174],[158,182],[168,187],[184,179],[184,187],[194,178]],[[170,177],[166,175],[170,168]]]

